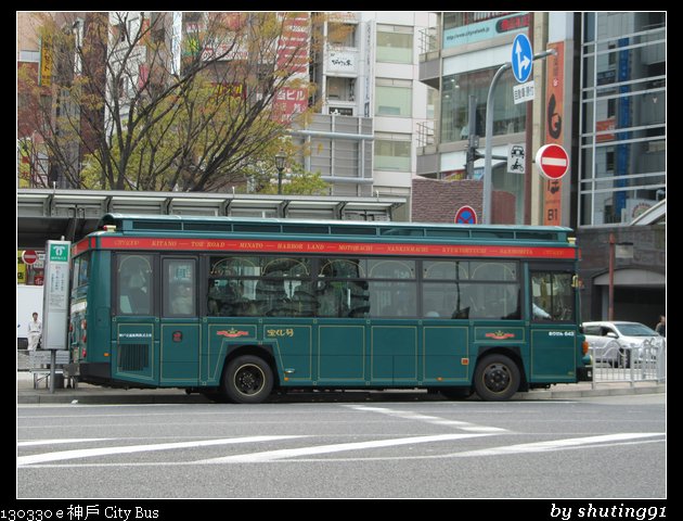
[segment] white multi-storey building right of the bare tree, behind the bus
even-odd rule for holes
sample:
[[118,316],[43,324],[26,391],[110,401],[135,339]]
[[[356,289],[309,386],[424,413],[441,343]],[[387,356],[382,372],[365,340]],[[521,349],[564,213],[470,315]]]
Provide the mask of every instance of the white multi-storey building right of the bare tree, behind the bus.
[[417,72],[420,37],[435,15],[362,11],[321,13],[313,21],[325,42],[311,61],[314,106],[373,125],[372,182],[358,194],[410,196],[420,136],[434,126],[436,91],[418,81]]

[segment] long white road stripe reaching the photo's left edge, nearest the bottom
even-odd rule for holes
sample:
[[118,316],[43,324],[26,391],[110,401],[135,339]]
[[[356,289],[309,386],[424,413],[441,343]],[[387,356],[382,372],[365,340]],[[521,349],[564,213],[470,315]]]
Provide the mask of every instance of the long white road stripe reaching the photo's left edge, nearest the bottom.
[[214,445],[235,445],[244,443],[255,442],[271,442],[275,440],[291,440],[295,437],[306,436],[245,436],[245,437],[229,437],[222,440],[202,440],[194,442],[177,442],[177,443],[157,443],[149,445],[127,445],[116,447],[100,447],[100,448],[83,448],[74,450],[60,450],[56,453],[34,454],[30,456],[21,456],[16,458],[16,465],[18,467],[44,463],[46,461],[57,461],[63,459],[79,459],[79,458],[92,458],[98,456],[111,456],[115,454],[132,454],[132,453],[146,453],[152,450],[172,450],[177,448],[196,448],[196,447],[210,447]]

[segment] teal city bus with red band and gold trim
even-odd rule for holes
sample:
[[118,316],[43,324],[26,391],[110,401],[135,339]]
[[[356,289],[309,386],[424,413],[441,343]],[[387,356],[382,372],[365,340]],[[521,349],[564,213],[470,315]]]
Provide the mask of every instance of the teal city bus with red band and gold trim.
[[73,245],[67,373],[260,403],[591,379],[571,230],[105,215]]

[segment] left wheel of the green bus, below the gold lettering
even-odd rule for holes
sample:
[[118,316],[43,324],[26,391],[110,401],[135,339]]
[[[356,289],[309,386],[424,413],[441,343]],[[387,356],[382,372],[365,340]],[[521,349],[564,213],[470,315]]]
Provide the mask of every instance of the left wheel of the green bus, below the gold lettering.
[[244,355],[231,360],[223,374],[223,392],[236,404],[260,404],[273,389],[273,371],[258,356]]

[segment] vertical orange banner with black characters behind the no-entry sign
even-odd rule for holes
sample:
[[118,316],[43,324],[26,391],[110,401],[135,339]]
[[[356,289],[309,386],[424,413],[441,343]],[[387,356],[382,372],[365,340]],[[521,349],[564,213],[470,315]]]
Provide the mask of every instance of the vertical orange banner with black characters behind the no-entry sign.
[[[565,43],[549,43],[547,49],[555,49],[557,54],[547,56],[545,85],[545,144],[563,144],[563,113],[565,82]],[[560,226],[562,180],[543,180],[543,225]]]

